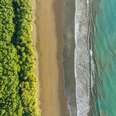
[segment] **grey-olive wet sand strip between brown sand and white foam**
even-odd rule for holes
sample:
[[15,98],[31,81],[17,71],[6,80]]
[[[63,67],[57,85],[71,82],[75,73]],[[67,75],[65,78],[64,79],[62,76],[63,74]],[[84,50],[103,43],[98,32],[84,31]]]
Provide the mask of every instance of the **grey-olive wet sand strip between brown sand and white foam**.
[[63,68],[65,80],[65,96],[70,116],[77,116],[76,82],[74,73],[75,50],[75,0],[65,0],[63,19]]

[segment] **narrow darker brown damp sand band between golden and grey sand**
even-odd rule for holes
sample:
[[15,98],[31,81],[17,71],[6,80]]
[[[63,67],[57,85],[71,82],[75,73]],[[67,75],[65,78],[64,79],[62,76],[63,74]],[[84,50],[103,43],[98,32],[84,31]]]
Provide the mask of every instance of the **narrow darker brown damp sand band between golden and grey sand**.
[[[54,10],[54,15],[55,15],[55,22],[56,22],[56,35],[57,35],[57,60],[58,60],[58,67],[59,67],[59,76],[62,77],[60,78],[60,83],[59,83],[59,91],[61,91],[61,93],[63,93],[64,98],[62,98],[61,96],[59,96],[60,102],[64,104],[64,109],[62,109],[62,114],[61,116],[69,116],[69,110],[68,110],[68,104],[67,104],[67,96],[65,95],[65,77],[64,77],[64,28],[63,28],[63,21],[64,21],[64,3],[65,0],[59,0],[59,2],[57,2],[57,0],[54,0],[53,3],[53,10]],[[59,11],[59,9],[62,9],[62,13],[61,11]],[[60,23],[60,25],[59,25]],[[60,87],[62,85],[62,87]],[[62,89],[61,89],[62,88]],[[65,110],[65,113],[64,113]]]

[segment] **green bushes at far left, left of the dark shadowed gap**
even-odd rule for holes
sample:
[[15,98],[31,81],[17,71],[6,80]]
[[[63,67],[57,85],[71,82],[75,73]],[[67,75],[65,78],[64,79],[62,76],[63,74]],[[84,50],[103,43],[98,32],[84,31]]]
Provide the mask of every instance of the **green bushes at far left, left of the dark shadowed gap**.
[[0,0],[0,116],[16,115],[21,106],[19,96],[20,66],[15,46],[11,0]]

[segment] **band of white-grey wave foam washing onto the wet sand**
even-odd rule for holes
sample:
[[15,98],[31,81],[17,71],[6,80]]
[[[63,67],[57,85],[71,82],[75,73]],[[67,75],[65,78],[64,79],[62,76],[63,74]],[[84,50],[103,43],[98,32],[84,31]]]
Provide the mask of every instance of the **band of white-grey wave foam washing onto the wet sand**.
[[75,80],[77,116],[87,116],[90,109],[89,0],[76,0],[75,7]]

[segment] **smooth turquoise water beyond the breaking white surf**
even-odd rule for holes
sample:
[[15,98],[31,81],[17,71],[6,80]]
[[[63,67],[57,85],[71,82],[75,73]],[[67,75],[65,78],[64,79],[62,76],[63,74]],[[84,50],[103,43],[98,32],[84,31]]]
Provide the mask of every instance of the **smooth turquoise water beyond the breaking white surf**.
[[92,116],[116,116],[116,0],[100,0],[94,25],[96,94]]

